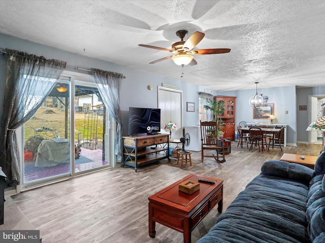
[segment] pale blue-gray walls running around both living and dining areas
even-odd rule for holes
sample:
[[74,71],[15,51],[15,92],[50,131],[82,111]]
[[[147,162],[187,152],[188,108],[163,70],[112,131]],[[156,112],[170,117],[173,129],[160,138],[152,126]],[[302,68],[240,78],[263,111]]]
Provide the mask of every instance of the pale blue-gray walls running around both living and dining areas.
[[[127,134],[128,129],[128,107],[157,107],[157,87],[162,83],[178,86],[183,91],[183,126],[199,124],[198,92],[211,93],[210,89],[194,86],[178,80],[168,79],[151,73],[126,68],[122,65],[104,62],[98,59],[84,57],[78,54],[62,51],[48,46],[32,43],[23,39],[0,34],[0,49],[14,49],[29,54],[44,56],[48,59],[59,59],[67,61],[69,65],[80,67],[94,67],[108,71],[123,73],[126,78],[122,80],[120,92],[120,107],[122,110],[123,131]],[[83,50],[81,50],[82,52]],[[149,64],[148,64],[149,65]],[[0,115],[2,115],[4,84],[5,84],[5,57],[0,56]],[[149,91],[147,86],[153,86]],[[284,88],[263,89],[261,84],[258,93],[269,97],[268,103],[274,103],[275,123],[287,124],[287,143],[296,144],[297,141],[308,142],[308,133],[305,131],[308,126],[308,115],[306,111],[299,111],[299,105],[308,104],[308,95],[325,94],[325,87],[297,89],[294,86]],[[249,123],[254,122],[252,108],[248,105],[248,99],[256,92],[253,90],[216,92],[213,95],[236,96],[236,124],[241,120]],[[296,99],[297,92],[297,99]],[[186,102],[195,103],[195,112],[186,112]],[[285,114],[288,111],[288,114]],[[297,118],[297,119],[296,119]],[[296,124],[297,120],[297,124]],[[269,120],[263,120],[269,123]],[[298,126],[298,131],[297,131]],[[298,134],[298,135],[297,135]],[[297,139],[298,136],[298,139]]]

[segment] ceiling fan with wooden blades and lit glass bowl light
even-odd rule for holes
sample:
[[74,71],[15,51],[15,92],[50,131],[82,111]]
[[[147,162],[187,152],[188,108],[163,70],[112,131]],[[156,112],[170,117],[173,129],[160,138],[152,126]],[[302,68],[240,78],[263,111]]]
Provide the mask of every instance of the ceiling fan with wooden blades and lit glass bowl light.
[[161,51],[167,51],[171,52],[174,55],[167,56],[164,58],[160,58],[158,60],[155,60],[153,62],[150,62],[150,64],[154,64],[160,61],[164,61],[166,59],[172,58],[172,60],[177,65],[197,65],[197,61],[193,58],[191,55],[207,55],[207,54],[221,54],[221,53],[228,53],[230,52],[230,49],[199,49],[199,50],[193,50],[194,47],[196,47],[203,39],[204,33],[196,31],[194,32],[186,42],[184,42],[184,37],[187,35],[187,30],[178,30],[176,32],[176,35],[181,38],[180,42],[176,42],[172,45],[172,49],[167,48],[161,48],[161,47],[154,47],[149,45],[143,45],[140,44],[140,47],[147,47],[152,49],[157,49]]

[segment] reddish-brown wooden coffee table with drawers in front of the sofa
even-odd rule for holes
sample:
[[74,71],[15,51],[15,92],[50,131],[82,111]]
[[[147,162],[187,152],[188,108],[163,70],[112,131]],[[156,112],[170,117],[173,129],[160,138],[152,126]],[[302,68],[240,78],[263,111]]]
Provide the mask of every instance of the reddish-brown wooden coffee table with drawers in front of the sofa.
[[[215,180],[215,184],[200,182],[200,190],[187,194],[178,190],[186,180],[199,178]],[[155,223],[182,232],[184,242],[191,242],[191,231],[218,204],[222,212],[223,180],[190,174],[165,189],[149,196],[149,236],[155,237]]]

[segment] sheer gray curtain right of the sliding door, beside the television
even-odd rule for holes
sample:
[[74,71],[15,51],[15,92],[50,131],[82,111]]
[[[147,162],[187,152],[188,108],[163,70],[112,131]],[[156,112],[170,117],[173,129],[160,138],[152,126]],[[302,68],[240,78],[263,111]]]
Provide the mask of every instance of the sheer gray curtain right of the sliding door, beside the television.
[[108,108],[110,115],[117,122],[114,154],[117,161],[122,161],[122,117],[120,109],[120,82],[123,74],[91,68],[98,90],[104,105]]

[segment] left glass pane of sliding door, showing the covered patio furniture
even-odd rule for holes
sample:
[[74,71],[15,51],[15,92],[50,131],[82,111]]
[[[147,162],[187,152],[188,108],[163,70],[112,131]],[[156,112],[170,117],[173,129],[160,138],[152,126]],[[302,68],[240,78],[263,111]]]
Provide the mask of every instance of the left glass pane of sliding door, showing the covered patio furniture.
[[60,80],[24,124],[23,181],[71,174],[69,80]]

